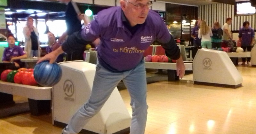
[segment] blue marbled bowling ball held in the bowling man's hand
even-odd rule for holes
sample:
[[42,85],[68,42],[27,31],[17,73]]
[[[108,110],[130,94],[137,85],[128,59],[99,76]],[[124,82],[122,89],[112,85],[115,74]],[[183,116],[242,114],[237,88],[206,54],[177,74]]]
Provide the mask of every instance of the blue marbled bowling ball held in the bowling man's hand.
[[56,62],[50,64],[48,60],[45,60],[34,68],[36,82],[44,87],[51,87],[57,84],[60,81],[61,75],[61,67]]

